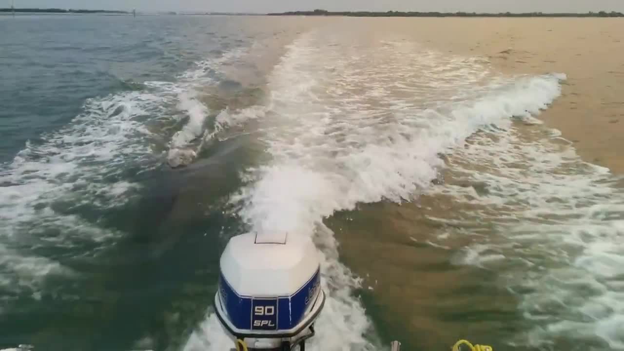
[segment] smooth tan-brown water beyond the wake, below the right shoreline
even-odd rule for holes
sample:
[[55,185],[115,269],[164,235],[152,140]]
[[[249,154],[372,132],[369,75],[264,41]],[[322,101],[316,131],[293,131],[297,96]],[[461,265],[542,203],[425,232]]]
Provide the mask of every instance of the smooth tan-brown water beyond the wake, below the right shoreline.
[[540,117],[588,162],[624,171],[622,19],[418,19],[388,21],[447,52],[487,57],[502,72],[563,72],[562,96]]

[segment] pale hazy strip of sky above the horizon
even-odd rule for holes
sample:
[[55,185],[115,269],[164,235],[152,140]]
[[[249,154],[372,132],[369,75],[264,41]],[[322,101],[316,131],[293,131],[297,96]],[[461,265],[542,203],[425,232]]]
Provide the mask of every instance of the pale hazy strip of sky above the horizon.
[[[14,0],[16,7],[273,12],[306,9],[467,12],[624,12],[624,0]],[[0,0],[0,7],[11,0]]]

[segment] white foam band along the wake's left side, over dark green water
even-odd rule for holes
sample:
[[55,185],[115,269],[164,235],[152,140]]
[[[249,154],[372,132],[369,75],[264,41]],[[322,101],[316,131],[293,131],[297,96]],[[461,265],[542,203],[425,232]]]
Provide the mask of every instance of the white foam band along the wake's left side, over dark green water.
[[89,256],[122,235],[71,213],[80,206],[106,210],[132,199],[140,185],[125,172],[129,167],[145,172],[160,166],[162,156],[152,146],[162,144],[160,134],[166,131],[154,126],[172,124],[176,104],[189,118],[173,134],[170,156],[180,163],[192,162],[196,149],[186,147],[203,137],[208,114],[194,89],[213,82],[208,66],[218,69],[236,52],[216,58],[212,66],[210,59],[199,62],[176,82],[145,82],[145,91],[87,99],[82,113],[69,124],[27,142],[12,161],[2,164],[0,248],[10,255],[0,259],[0,285],[36,292],[46,275],[67,273],[54,259],[17,247],[54,245],[59,250],[93,242],[97,245],[89,245],[92,251],[81,253]]

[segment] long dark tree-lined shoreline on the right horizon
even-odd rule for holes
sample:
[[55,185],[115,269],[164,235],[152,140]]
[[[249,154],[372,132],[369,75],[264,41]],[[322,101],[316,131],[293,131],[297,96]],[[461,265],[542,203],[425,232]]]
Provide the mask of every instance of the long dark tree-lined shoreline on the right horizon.
[[270,13],[268,16],[347,16],[347,17],[624,17],[622,12],[586,12],[586,13],[479,13],[479,12],[371,12],[371,11],[342,11],[332,12],[325,10],[290,11]]

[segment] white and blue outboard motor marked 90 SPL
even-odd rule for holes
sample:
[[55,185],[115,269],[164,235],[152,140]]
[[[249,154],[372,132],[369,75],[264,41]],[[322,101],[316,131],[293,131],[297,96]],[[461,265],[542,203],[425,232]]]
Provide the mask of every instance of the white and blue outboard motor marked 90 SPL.
[[285,351],[314,335],[323,308],[318,252],[304,235],[243,234],[220,262],[217,316],[236,349]]

